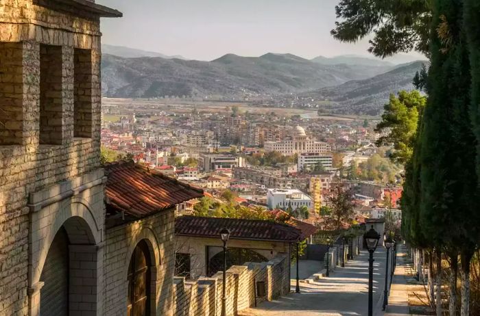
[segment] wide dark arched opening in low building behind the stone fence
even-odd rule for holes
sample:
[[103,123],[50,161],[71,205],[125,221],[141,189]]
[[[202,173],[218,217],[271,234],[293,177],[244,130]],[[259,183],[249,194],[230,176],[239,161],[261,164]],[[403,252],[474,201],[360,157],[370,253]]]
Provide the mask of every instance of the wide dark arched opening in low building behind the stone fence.
[[[243,265],[245,262],[265,262],[268,261],[268,259],[251,249],[228,248],[226,261],[226,268],[228,269],[232,265]],[[213,276],[213,274],[223,271],[223,269],[224,252],[221,251],[215,254],[215,256],[213,256],[208,262],[208,276]]]

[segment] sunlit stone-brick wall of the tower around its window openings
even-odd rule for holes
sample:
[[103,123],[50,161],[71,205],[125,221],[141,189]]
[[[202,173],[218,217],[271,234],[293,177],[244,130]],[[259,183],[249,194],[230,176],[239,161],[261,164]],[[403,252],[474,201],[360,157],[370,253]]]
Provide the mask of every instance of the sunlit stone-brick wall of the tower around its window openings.
[[[0,129],[0,315],[28,313],[29,194],[100,166],[100,36],[98,18],[73,17],[32,0],[1,1],[0,64],[10,66],[0,69],[0,109],[8,113],[8,131]],[[40,144],[40,44],[62,47],[65,64],[73,64],[74,49],[91,50],[91,138],[73,138],[71,72],[62,75],[62,143]]]

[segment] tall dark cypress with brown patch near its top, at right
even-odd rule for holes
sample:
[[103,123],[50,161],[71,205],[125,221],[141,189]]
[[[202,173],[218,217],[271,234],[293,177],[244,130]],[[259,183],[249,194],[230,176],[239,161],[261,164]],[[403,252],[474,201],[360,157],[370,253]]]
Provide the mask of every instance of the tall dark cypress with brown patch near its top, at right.
[[[461,0],[433,3],[429,100],[420,136],[420,224],[435,247],[458,248],[461,262],[470,265],[475,245],[468,226],[477,212],[477,176],[463,10]],[[461,271],[462,280],[468,279],[468,270]],[[462,282],[462,315],[468,315],[468,280]]]

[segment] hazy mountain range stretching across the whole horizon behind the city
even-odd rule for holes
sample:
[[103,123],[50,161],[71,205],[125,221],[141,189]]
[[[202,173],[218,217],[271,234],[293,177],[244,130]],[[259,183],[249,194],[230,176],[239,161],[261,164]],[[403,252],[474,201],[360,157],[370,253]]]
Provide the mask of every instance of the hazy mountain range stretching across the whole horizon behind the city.
[[379,103],[372,102],[383,98],[384,90],[392,92],[411,84],[418,70],[415,63],[398,66],[355,55],[307,60],[291,54],[227,54],[204,62],[108,45],[102,49],[103,95],[119,98],[303,94],[330,99],[333,111],[365,113],[379,108]]

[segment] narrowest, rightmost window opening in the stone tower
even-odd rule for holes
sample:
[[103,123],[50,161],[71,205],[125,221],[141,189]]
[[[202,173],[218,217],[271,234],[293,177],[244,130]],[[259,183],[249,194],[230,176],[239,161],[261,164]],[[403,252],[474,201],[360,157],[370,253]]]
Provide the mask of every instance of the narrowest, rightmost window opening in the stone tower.
[[92,51],[75,49],[73,68],[73,136],[92,137]]

